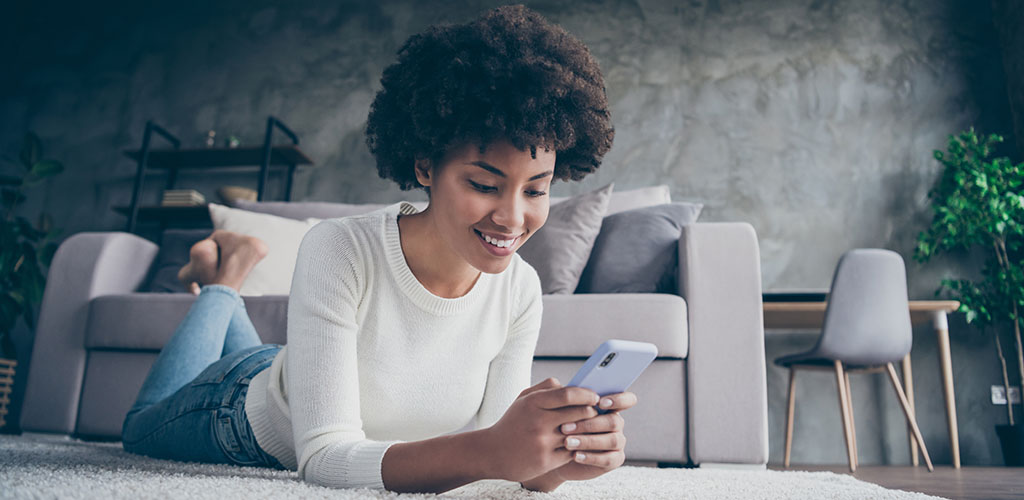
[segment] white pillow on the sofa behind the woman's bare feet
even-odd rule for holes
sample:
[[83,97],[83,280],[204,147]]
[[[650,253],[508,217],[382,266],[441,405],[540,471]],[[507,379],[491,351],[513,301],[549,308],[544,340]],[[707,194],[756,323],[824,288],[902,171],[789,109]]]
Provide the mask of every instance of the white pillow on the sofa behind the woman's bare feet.
[[265,213],[249,212],[211,203],[210,218],[215,230],[226,230],[263,240],[269,249],[242,284],[242,295],[288,295],[299,244],[318,218],[295,220]]

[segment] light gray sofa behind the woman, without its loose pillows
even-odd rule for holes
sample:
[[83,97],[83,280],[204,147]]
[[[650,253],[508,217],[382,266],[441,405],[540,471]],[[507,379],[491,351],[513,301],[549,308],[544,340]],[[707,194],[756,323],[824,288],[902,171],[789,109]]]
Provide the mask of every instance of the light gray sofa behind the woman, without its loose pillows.
[[[624,414],[629,460],[759,464],[768,460],[761,270],[748,223],[697,222],[679,240],[675,294],[545,295],[534,383],[567,382],[602,341],[656,344]],[[139,293],[158,253],[126,233],[60,245],[43,298],[23,430],[118,440],[151,365],[194,297]],[[264,342],[285,343],[287,296],[247,297]]]

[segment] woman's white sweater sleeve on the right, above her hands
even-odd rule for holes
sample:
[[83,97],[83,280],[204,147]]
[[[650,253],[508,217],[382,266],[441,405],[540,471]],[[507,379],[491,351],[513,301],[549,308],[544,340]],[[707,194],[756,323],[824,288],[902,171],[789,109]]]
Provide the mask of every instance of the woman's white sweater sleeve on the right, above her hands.
[[519,311],[513,317],[501,351],[490,361],[483,401],[476,413],[477,429],[494,425],[505,415],[505,411],[519,393],[530,385],[534,351],[541,333],[544,303],[541,279],[529,264],[525,261],[521,263],[525,264],[523,267],[526,273],[520,281],[517,300]]

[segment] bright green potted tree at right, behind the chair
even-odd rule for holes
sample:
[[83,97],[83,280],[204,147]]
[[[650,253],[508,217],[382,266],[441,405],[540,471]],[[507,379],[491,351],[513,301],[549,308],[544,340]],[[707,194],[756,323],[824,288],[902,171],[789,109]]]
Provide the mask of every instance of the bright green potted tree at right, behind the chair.
[[[1002,385],[1010,393],[1007,351],[1001,337],[1012,333],[1018,380],[1024,380],[1024,163],[1008,158],[989,159],[1002,137],[979,137],[974,128],[949,136],[946,152],[935,151],[944,169],[928,196],[935,216],[918,237],[914,259],[926,262],[933,255],[978,245],[985,254],[981,279],[942,280],[935,291],[952,292],[967,322],[990,331],[1002,369]],[[1014,420],[1014,405],[1007,398],[1009,425],[996,425],[1007,465],[1024,463],[1024,431]]]

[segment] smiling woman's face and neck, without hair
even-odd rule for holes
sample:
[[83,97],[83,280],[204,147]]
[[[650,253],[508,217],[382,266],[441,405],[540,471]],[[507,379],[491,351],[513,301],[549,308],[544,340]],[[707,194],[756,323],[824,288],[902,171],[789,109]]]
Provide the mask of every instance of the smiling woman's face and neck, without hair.
[[474,143],[453,149],[436,165],[418,161],[416,176],[431,190],[430,205],[398,224],[406,259],[420,282],[458,297],[481,272],[505,270],[548,218],[555,158],[552,151],[535,158],[497,140],[483,153]]

